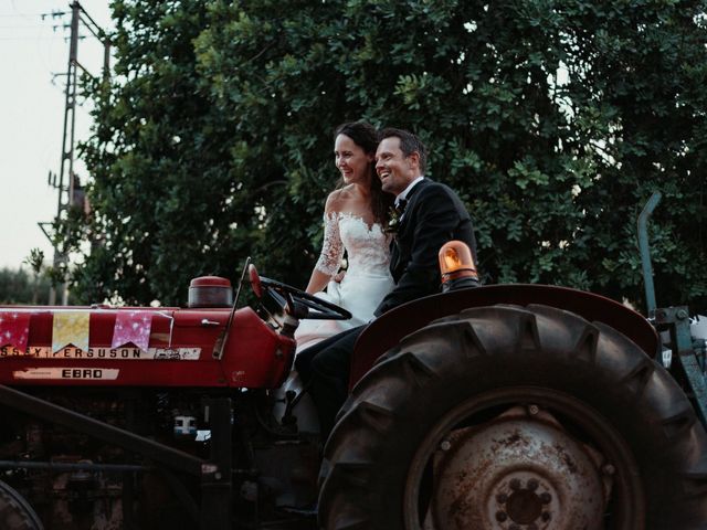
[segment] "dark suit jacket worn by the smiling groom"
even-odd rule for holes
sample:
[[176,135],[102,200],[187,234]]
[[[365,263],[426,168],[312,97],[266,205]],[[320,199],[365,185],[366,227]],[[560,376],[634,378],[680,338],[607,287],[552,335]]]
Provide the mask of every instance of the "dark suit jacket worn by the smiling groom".
[[440,292],[437,253],[451,240],[465,242],[476,258],[472,220],[449,187],[423,179],[408,193],[408,205],[391,243],[390,273],[395,287],[376,309],[376,316]]

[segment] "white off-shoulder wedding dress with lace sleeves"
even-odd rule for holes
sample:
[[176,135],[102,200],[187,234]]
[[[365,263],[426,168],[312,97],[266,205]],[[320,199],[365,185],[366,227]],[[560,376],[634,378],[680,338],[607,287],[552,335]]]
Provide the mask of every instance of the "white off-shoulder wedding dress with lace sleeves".
[[340,283],[329,282],[316,296],[348,309],[350,320],[303,320],[295,333],[297,351],[373,318],[373,310],[394,286],[390,276],[390,236],[379,223],[368,226],[358,215],[334,212],[324,216],[324,244],[316,268],[335,275],[346,250],[348,268]]

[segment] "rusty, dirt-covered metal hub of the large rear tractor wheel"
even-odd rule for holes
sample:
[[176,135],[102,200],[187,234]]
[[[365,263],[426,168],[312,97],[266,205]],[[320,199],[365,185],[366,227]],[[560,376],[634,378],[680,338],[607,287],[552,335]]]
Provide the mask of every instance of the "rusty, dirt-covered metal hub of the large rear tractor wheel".
[[600,456],[538,407],[456,430],[433,459],[434,528],[599,528]]

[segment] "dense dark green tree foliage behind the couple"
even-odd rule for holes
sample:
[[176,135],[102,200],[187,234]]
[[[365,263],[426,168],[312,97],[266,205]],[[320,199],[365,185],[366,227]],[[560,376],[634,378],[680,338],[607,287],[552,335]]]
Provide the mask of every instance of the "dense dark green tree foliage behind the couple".
[[[475,220],[489,282],[641,303],[654,190],[658,304],[705,307],[707,2],[113,2],[88,83],[85,298],[181,303],[246,255],[304,285],[345,120],[416,131]],[[641,304],[642,305],[642,304]]]

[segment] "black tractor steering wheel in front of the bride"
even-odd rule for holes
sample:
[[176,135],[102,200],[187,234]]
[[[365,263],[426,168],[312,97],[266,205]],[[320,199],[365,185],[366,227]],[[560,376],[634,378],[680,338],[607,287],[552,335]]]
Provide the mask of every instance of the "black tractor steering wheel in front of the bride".
[[351,318],[349,311],[336,304],[317,298],[292,285],[260,276],[253,264],[250,265],[249,276],[253,285],[253,290],[258,298],[258,288],[264,287],[271,289],[284,298],[287,303],[287,312],[295,318],[309,318],[314,320],[348,320]]

